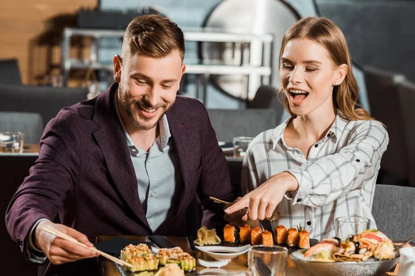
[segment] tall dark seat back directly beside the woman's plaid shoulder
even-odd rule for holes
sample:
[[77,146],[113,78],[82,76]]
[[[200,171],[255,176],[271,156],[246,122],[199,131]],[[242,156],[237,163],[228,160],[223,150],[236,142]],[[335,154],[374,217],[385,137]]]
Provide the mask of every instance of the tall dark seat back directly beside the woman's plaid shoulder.
[[365,67],[364,71],[371,116],[382,121],[389,134],[389,144],[380,164],[378,183],[405,185],[409,168],[403,134],[404,118],[400,112],[397,86],[404,77],[372,67]]

